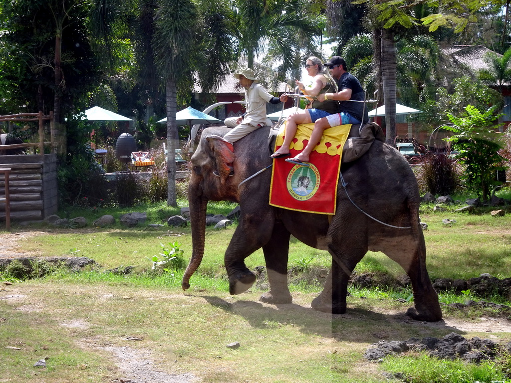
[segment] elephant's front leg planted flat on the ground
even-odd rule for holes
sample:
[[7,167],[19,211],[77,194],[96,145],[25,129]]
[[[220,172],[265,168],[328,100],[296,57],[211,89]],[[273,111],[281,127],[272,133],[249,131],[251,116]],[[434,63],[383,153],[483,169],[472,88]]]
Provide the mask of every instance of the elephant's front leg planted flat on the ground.
[[273,226],[270,241],[263,246],[270,291],[261,296],[259,299],[261,302],[282,304],[293,301],[287,283],[290,236],[291,234],[284,227],[283,222],[278,220]]

